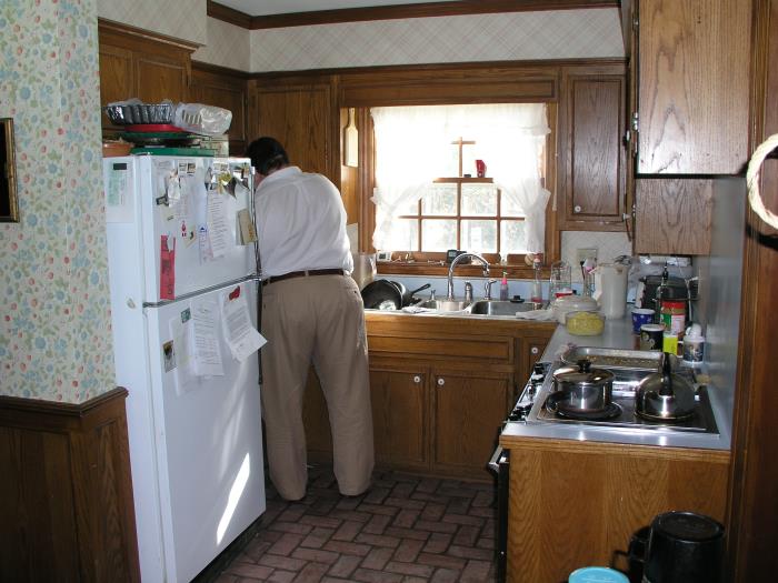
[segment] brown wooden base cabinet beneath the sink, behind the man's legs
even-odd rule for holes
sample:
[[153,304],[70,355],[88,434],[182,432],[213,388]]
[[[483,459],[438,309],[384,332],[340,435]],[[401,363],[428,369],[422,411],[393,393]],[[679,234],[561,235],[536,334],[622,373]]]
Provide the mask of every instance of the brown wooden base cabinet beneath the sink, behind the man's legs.
[[[555,325],[368,313],[376,465],[491,481],[486,468]],[[308,459],[332,460],[327,404],[313,369],[302,406]]]

